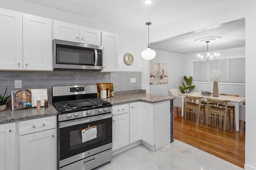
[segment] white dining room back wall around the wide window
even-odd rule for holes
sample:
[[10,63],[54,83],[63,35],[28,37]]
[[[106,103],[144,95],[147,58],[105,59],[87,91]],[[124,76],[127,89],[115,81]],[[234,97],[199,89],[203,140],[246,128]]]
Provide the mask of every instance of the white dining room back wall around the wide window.
[[[229,59],[229,58],[245,56],[245,46],[244,45],[239,46],[239,47],[216,49],[216,50],[212,50],[212,51],[218,51],[218,53],[220,53],[219,59]],[[197,54],[198,53],[188,53],[188,54],[183,55],[182,63],[184,64],[184,67],[183,67],[184,75],[192,76],[192,61],[198,61]],[[212,89],[213,89],[213,82],[196,82],[196,81],[194,81],[193,85],[196,86],[194,89],[194,92],[201,92],[201,90],[212,92]],[[221,94],[221,93],[238,94],[239,96],[245,97],[245,84],[244,83],[218,82],[218,90],[219,90],[219,94]]]

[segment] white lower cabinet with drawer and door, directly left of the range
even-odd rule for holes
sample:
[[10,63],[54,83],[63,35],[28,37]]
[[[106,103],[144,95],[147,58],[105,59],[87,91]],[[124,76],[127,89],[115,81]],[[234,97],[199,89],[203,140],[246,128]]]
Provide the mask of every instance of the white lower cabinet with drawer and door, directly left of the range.
[[22,132],[28,134],[20,136],[20,170],[56,170],[56,117],[22,121]]

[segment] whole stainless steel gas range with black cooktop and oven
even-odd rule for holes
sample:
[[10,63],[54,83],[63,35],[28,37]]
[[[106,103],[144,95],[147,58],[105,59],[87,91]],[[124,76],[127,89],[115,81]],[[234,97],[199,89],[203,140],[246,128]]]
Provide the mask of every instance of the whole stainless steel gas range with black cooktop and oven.
[[90,170],[112,160],[112,105],[96,85],[54,86],[58,111],[58,169]]

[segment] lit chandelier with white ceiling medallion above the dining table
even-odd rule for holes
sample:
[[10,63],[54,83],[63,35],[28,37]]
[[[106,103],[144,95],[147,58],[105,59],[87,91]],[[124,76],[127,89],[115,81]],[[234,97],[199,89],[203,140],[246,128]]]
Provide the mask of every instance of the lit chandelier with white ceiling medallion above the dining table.
[[210,55],[210,53],[208,52],[208,43],[210,43],[210,41],[217,41],[220,39],[222,39],[222,37],[204,37],[204,38],[196,39],[194,41],[195,43],[202,43],[202,42],[207,43],[206,57],[200,54],[197,55],[199,63],[214,64],[218,61],[220,54],[214,53],[214,55]]

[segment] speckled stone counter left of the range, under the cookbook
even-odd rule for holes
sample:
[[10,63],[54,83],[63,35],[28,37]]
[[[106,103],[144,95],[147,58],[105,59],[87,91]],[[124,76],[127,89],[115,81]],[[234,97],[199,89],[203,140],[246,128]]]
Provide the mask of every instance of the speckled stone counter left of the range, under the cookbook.
[[0,111],[0,124],[10,123],[14,121],[22,121],[26,119],[34,119],[40,117],[54,116],[57,115],[58,112],[49,104],[49,107],[44,109],[41,107],[40,110],[37,110],[36,107],[30,109],[21,109],[12,111],[10,108],[7,108],[4,111]]

